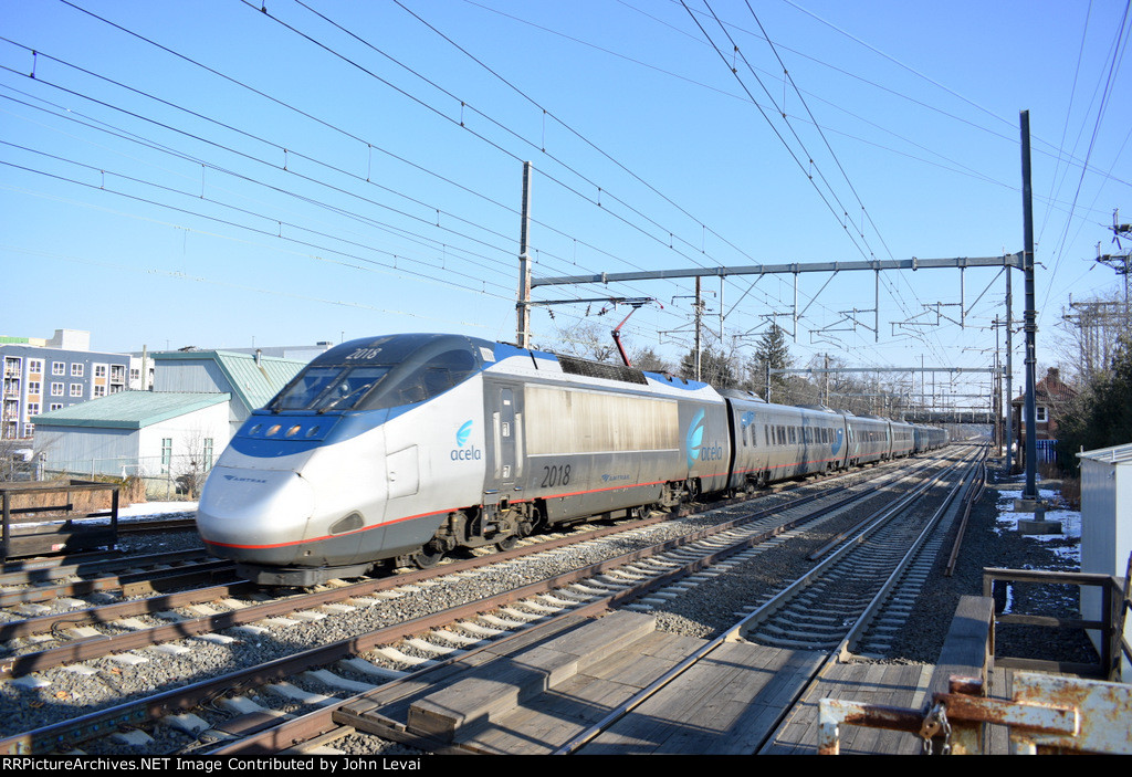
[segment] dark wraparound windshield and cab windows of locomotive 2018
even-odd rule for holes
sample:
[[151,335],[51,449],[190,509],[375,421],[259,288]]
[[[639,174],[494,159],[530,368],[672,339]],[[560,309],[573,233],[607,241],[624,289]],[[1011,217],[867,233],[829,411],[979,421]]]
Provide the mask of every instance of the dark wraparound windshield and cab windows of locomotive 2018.
[[422,343],[420,337],[403,335],[361,346],[348,343],[328,351],[267,407],[275,413],[326,413],[412,405],[447,391],[479,370],[466,339],[448,336]]

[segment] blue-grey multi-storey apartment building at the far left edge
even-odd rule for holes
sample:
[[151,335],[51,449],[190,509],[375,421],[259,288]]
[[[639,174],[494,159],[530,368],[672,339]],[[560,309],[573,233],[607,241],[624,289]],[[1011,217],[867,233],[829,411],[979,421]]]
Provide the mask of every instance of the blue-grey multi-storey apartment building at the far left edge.
[[91,333],[57,329],[50,339],[0,337],[3,408],[0,438],[26,439],[42,413],[142,388],[127,354],[91,351]]

